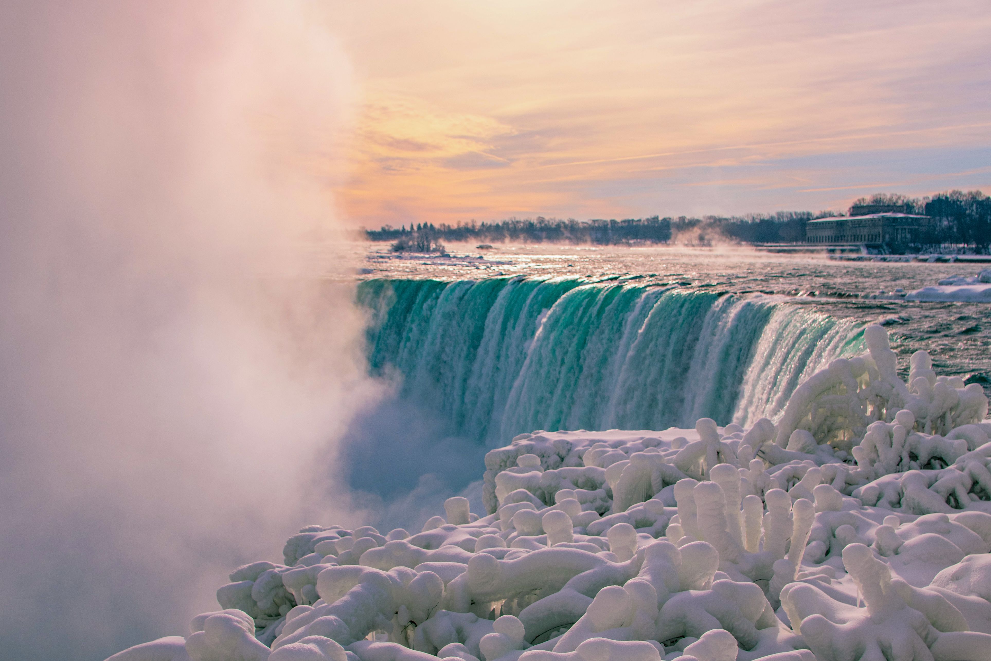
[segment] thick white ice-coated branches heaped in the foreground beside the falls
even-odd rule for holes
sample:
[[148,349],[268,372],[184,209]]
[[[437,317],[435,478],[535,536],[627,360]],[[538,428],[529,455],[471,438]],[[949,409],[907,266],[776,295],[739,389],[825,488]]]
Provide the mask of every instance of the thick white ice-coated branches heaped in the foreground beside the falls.
[[483,515],[310,525],[114,661],[991,661],[991,423],[880,327],[776,422],[536,431]]

